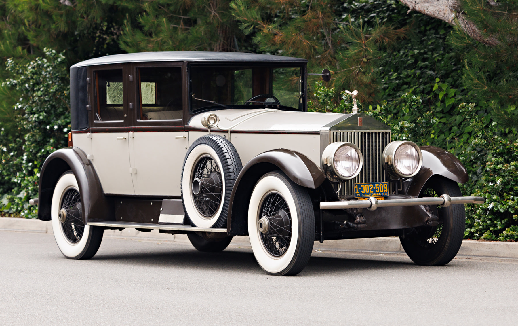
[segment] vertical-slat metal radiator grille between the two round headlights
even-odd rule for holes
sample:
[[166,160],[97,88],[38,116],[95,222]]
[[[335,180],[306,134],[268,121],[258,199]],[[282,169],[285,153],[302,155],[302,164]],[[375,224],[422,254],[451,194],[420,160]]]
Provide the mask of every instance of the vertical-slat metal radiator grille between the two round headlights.
[[[381,163],[381,155],[383,153],[383,149],[390,143],[390,132],[330,131],[330,133],[330,140],[332,143],[335,141],[349,141],[358,146],[359,150],[363,153],[362,171],[354,179],[341,182],[341,188],[340,186],[335,186],[335,190],[340,188],[340,191],[337,192],[338,195],[354,195],[354,183],[387,181],[387,177]],[[389,183],[389,186],[392,186],[391,183]],[[392,191],[390,191],[390,193],[392,193]]]

